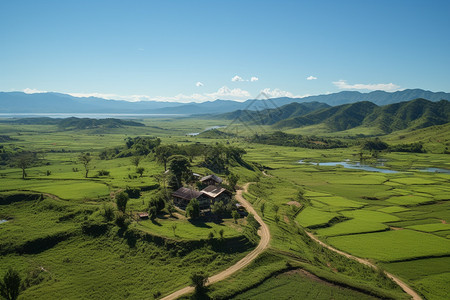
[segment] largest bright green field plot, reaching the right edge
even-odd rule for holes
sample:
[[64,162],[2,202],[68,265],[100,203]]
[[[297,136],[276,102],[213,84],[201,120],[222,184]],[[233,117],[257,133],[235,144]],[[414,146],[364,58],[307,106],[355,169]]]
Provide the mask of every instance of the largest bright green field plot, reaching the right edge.
[[328,241],[345,252],[380,261],[450,254],[450,240],[407,229],[331,237]]

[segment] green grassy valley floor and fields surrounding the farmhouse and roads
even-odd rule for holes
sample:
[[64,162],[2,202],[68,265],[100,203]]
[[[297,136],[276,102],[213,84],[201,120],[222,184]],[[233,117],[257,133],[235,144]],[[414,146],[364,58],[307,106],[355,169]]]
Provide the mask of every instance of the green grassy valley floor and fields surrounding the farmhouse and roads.
[[[26,179],[17,167],[0,167],[0,219],[6,220],[0,223],[0,276],[14,267],[26,279],[19,299],[158,299],[187,286],[191,274],[215,274],[254,248],[257,240],[245,218],[194,222],[166,207],[154,220],[139,220],[136,214],[147,211],[163,188],[164,166],[149,153],[139,164],[140,176],[130,157],[100,158],[136,136],[158,137],[163,145],[220,143],[246,151],[247,165],[228,168],[239,175],[238,186],[252,182],[244,197],[268,224],[270,249],[211,285],[211,298],[408,299],[381,272],[321,247],[305,231],[374,261],[426,299],[448,295],[443,287],[450,286],[450,175],[420,171],[450,168],[437,142],[442,127],[426,131],[427,153],[379,154],[380,169],[398,171],[381,173],[317,164],[357,160],[357,138],[349,138],[363,134],[356,129],[328,135],[348,140],[349,147],[306,149],[249,142],[257,130],[270,127],[241,126],[235,130],[239,136],[224,139],[186,136],[227,125],[223,120],[140,121],[146,126],[68,131],[0,123],[2,134],[13,138],[1,143],[3,149],[36,151],[43,162],[27,168]],[[325,134],[323,128],[310,129]],[[312,134],[308,130],[290,131]],[[393,143],[397,137],[381,138]],[[82,152],[93,157],[87,178],[78,161]],[[212,172],[199,157],[191,164],[194,172]],[[115,209],[113,196],[127,188],[140,195],[128,201],[130,224],[123,229],[104,215],[108,207]]]

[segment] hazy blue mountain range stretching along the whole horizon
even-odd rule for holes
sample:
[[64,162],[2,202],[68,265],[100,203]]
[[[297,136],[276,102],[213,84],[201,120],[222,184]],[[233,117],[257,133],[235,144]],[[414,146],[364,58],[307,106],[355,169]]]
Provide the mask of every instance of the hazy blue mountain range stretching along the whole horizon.
[[203,103],[179,103],[160,101],[128,102],[102,98],[79,98],[60,93],[25,94],[22,92],[0,92],[0,113],[147,113],[147,114],[218,114],[236,110],[262,110],[289,103],[319,102],[329,106],[369,101],[376,105],[387,105],[417,98],[433,102],[450,100],[450,93],[430,92],[421,89],[403,90],[393,93],[374,91],[360,93],[344,91],[328,95],[304,98],[273,98],[269,100],[215,100]]

